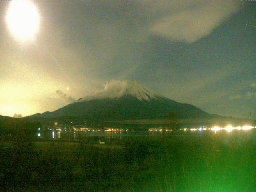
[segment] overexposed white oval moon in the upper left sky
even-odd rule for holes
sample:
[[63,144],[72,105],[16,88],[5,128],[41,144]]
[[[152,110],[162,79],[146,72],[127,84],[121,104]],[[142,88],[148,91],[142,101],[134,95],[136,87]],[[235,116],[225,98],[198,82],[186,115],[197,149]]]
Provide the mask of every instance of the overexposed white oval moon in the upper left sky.
[[28,0],[12,0],[6,20],[11,32],[20,40],[32,39],[38,31],[38,10]]

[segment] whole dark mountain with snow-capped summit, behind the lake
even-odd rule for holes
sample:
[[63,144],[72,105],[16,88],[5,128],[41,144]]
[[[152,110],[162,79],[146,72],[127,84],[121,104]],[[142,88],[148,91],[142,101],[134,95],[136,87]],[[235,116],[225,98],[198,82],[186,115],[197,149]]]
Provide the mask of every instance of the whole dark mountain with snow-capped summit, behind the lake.
[[161,96],[136,81],[112,81],[92,96],[53,112],[34,117],[80,117],[94,120],[164,119],[171,114],[178,118],[208,118],[210,114],[190,105]]

